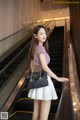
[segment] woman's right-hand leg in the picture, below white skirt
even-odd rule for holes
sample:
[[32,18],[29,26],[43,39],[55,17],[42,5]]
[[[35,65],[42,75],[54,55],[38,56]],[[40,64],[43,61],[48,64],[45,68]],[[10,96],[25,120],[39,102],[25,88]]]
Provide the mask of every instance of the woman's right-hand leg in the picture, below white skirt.
[[51,100],[42,100],[40,107],[40,119],[39,120],[48,120],[48,115],[50,111]]

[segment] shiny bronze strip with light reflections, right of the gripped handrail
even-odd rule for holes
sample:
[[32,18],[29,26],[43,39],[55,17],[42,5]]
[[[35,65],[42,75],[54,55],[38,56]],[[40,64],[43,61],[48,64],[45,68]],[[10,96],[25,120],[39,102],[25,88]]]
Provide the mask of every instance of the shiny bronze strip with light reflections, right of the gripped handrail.
[[80,83],[77,72],[75,52],[73,49],[72,39],[70,33],[68,32],[69,38],[69,49],[68,49],[68,58],[69,58],[69,76],[70,76],[70,88],[73,101],[73,109],[75,112],[76,120],[80,120]]

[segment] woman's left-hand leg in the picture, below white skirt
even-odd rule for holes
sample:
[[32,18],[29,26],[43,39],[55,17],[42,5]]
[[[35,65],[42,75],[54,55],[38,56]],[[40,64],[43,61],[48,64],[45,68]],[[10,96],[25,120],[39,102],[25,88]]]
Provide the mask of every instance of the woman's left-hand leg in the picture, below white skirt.
[[40,100],[34,100],[34,110],[32,120],[39,120]]

